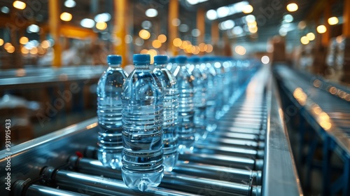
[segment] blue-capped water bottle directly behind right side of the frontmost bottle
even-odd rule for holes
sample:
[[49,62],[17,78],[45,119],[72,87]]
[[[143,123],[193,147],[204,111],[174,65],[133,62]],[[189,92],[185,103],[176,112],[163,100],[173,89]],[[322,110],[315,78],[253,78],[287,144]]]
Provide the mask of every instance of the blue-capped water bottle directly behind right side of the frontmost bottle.
[[154,57],[155,69],[153,73],[162,84],[164,94],[164,123],[163,123],[163,151],[165,171],[172,172],[178,160],[179,153],[176,127],[179,109],[179,90],[177,82],[172,73],[166,68],[169,57],[167,55],[157,55]]

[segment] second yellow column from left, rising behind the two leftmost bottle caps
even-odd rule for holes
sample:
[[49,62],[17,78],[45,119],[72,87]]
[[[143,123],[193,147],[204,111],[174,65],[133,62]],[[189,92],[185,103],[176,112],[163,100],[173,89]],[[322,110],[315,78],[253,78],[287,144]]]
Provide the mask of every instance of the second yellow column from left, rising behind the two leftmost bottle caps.
[[129,59],[127,57],[127,43],[125,43],[125,36],[127,35],[127,29],[130,21],[128,20],[128,1],[127,0],[114,0],[114,32],[118,41],[114,42],[114,54],[120,55],[123,58],[122,66],[125,66]]

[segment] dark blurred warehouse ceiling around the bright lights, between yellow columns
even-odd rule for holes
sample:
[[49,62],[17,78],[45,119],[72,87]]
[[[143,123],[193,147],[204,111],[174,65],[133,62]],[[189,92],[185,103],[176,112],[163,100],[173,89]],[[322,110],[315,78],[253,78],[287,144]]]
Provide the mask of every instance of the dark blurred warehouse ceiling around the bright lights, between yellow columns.
[[[203,0],[192,0],[203,1]],[[1,18],[14,16],[25,16],[29,22],[28,24],[47,25],[48,22],[48,1],[47,0],[28,0],[25,1],[27,7],[25,10],[16,10],[13,8],[13,1],[2,0],[0,1],[0,8],[4,6],[9,8],[8,13],[0,13]],[[189,0],[179,0],[180,10],[179,10],[179,22],[181,26],[181,32],[179,36],[183,39],[193,39],[191,30],[196,28],[196,12],[198,9],[202,8],[207,10],[217,10],[223,8],[223,6],[232,6],[234,3],[239,3],[241,1],[237,0],[207,0],[194,5],[189,3]],[[286,5],[292,1],[283,0],[251,0],[247,3],[253,6],[253,12],[251,15],[255,16],[255,20],[258,25],[258,32],[256,34],[240,34],[237,35],[233,32],[232,28],[221,30],[222,35],[228,35],[232,40],[237,41],[267,41],[268,38],[279,34],[279,29],[283,25],[283,16],[290,14],[293,16],[293,22],[290,22],[288,31],[294,31],[297,27],[297,23],[302,20],[307,20],[308,22],[321,22],[316,21],[323,16],[323,7],[325,3],[330,3],[331,15],[337,17],[342,16],[342,0],[295,0],[293,2],[297,3],[299,6],[298,10],[293,13],[288,13],[286,10]],[[65,1],[59,1],[60,10],[59,13],[68,12],[72,14],[72,20],[69,22],[63,22],[64,24],[74,25],[81,27],[80,22],[84,18],[94,19],[94,17],[99,13],[110,13],[111,20],[107,22],[109,27],[104,31],[99,31],[95,27],[92,27],[94,31],[99,33],[111,32],[113,28],[113,1],[112,0],[75,0],[76,6],[73,8],[67,8],[64,6]],[[129,1],[130,6],[128,6],[128,13],[130,13],[130,20],[128,22],[133,23],[130,31],[137,35],[139,30],[143,29],[144,26],[150,26],[149,31],[154,34],[167,34],[167,15],[169,0],[133,0]],[[148,18],[145,12],[148,8],[155,8],[158,10],[158,15],[154,18]],[[218,22],[225,22],[227,20],[233,20],[235,22],[235,27],[241,25],[244,29],[244,24],[240,24],[244,20],[244,17],[248,14],[235,13],[233,15],[228,15],[223,18],[216,19]],[[144,21],[149,21],[151,23],[143,23]],[[209,42],[211,38],[211,24],[214,20],[209,20],[206,18],[206,32],[205,41]],[[0,22],[2,26],[6,26],[6,21]],[[187,29],[186,29],[187,26]],[[180,27],[180,26],[179,26]],[[238,30],[239,28],[237,28]]]

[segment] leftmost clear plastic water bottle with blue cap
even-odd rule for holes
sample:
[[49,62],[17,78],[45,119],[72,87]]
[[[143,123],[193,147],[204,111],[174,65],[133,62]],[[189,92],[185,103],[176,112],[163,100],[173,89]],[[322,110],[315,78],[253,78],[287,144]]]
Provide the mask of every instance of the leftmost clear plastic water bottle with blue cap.
[[99,122],[98,158],[104,166],[120,168],[122,142],[122,86],[127,73],[120,67],[122,57],[109,55],[109,68],[97,85],[97,117]]

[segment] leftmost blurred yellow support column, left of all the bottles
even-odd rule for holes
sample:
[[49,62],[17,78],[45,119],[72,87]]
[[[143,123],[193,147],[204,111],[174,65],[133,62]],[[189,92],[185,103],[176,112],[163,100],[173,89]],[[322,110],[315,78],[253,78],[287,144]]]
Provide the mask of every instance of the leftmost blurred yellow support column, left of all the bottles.
[[48,1],[48,18],[49,18],[49,29],[52,39],[55,41],[53,45],[54,57],[52,61],[52,66],[59,67],[62,65],[61,56],[62,48],[61,43],[59,43],[59,0]]

